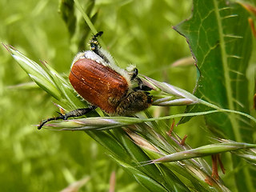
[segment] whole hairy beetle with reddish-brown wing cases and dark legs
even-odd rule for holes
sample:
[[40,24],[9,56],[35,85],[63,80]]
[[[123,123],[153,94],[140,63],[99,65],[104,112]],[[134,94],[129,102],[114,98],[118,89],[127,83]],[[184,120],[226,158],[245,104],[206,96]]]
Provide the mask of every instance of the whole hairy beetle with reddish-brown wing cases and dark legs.
[[126,116],[151,106],[153,99],[148,92],[151,88],[138,78],[137,68],[130,66],[123,70],[115,64],[112,56],[99,45],[98,37],[102,34],[98,32],[91,38],[90,50],[77,54],[70,68],[71,85],[90,106],[42,120],[38,130],[46,122],[80,117],[97,107],[106,114]]

